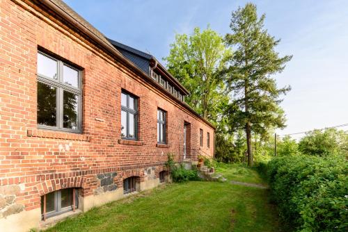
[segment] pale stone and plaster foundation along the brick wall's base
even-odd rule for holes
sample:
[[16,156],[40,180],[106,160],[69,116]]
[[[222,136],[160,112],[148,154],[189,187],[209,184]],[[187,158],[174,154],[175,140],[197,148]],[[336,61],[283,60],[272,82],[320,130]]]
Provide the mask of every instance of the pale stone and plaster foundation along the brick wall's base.
[[[136,183],[136,192],[150,190],[161,183],[159,182],[159,172],[164,167],[146,167],[144,169],[131,169],[121,172],[106,172],[104,174],[96,174],[96,186],[92,191],[93,194],[84,196],[84,188],[80,188],[79,192],[79,208],[78,212],[86,212],[90,208],[102,206],[111,201],[117,201],[128,194],[123,194],[123,179],[130,176],[138,176],[139,183]],[[166,182],[171,182],[168,174],[165,178]],[[62,183],[64,185],[64,183]],[[64,185],[65,186],[65,185]],[[69,186],[68,186],[69,187]],[[66,187],[65,187],[66,188]],[[56,188],[61,189],[61,188]],[[30,229],[45,229],[52,226],[70,215],[78,212],[63,213],[56,217],[50,217],[45,222],[41,219],[41,208],[33,210],[25,210],[24,205],[17,204],[16,198],[25,192],[21,185],[5,185],[0,186],[0,231],[29,231]]]

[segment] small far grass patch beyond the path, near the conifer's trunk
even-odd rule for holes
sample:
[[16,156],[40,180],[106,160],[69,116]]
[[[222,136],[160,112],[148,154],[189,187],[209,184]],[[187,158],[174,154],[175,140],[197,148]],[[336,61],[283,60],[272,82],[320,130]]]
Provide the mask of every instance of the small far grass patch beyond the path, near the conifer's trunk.
[[246,165],[219,163],[218,167],[216,167],[216,172],[223,174],[223,177],[228,179],[228,181],[265,183],[254,167],[247,167]]

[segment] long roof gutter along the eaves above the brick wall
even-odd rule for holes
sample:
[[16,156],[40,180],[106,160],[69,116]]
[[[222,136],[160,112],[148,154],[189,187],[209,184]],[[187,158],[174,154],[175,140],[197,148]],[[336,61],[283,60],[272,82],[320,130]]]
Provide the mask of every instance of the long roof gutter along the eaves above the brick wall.
[[[17,0],[15,0],[15,1],[17,1]],[[150,78],[150,76],[148,76],[148,74],[143,72],[143,70],[139,69],[139,67],[136,67],[136,65],[134,65],[134,63],[132,63],[132,61],[130,61],[127,58],[125,58],[125,56],[123,56],[122,53],[120,53],[120,51],[118,51],[111,44],[108,44],[104,40],[100,39],[97,35],[95,35],[95,33],[93,33],[93,31],[90,31],[90,29],[86,28],[86,26],[84,26],[84,24],[81,24],[76,19],[74,19],[74,17],[72,17],[65,10],[63,10],[60,6],[58,6],[56,3],[54,3],[54,1],[52,1],[52,0],[41,0],[40,3],[44,4],[48,8],[52,9],[55,13],[57,13],[58,15],[63,17],[63,19],[65,19],[70,24],[72,24],[73,26],[78,28],[80,31],[82,31],[83,33],[88,35],[89,38],[93,39],[95,42],[97,42],[97,44],[100,44],[100,46],[102,46],[102,48],[106,49],[106,51],[109,51],[113,56],[116,56],[116,58],[118,58],[118,60],[120,60],[122,63],[124,63],[125,65],[130,67],[130,69],[132,69],[132,71],[136,72],[137,74],[140,74],[143,78],[145,78],[145,80],[147,80],[150,83],[154,84],[160,90],[164,90],[164,88],[161,85],[159,85],[159,83],[157,83],[156,81],[152,80],[152,78]],[[161,66],[160,63],[158,63],[158,64],[159,64],[160,67],[163,67],[163,66]],[[176,81],[176,79],[174,77],[173,77],[173,79]],[[184,90],[186,90],[186,89],[184,89]],[[164,92],[166,94],[166,91],[164,91]],[[186,92],[188,92],[188,91],[186,90]],[[206,124],[211,126],[214,130],[216,129],[216,127],[214,125],[212,125],[210,122],[208,122],[207,119],[204,119],[202,116],[200,116],[187,103],[184,103],[184,102],[180,101],[179,99],[176,99],[173,96],[171,96],[171,97],[173,99],[175,99],[175,101],[178,101],[182,106],[187,108],[187,110],[191,111],[191,113],[193,113],[194,115],[196,115],[197,117],[202,119],[203,122],[205,122]]]

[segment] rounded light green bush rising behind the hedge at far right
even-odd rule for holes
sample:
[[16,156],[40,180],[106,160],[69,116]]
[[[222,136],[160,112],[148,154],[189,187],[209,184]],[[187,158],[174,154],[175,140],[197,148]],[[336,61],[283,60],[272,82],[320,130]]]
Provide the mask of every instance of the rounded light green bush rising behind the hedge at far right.
[[299,142],[299,150],[312,156],[348,154],[348,133],[337,129],[315,130],[306,133]]

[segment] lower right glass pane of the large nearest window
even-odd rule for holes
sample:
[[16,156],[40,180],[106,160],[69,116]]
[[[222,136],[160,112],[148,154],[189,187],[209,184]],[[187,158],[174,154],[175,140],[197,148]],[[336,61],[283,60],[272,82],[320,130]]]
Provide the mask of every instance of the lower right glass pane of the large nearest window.
[[77,94],[64,91],[63,93],[63,127],[77,130]]

